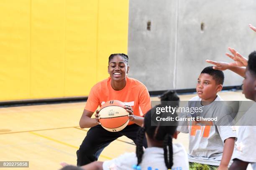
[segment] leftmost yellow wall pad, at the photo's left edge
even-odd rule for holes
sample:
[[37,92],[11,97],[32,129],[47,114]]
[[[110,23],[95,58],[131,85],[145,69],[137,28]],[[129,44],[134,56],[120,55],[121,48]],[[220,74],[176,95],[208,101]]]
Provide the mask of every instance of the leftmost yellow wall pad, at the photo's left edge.
[[1,0],[0,100],[30,98],[30,0]]

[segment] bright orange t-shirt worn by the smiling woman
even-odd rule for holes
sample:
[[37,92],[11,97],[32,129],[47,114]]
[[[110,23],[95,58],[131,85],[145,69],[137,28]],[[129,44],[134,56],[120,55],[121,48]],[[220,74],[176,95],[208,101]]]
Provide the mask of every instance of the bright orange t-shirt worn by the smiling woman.
[[[126,76],[126,85],[122,90],[114,90],[110,77],[94,85],[88,96],[85,110],[95,112],[98,106],[109,100],[120,100],[133,108],[133,114],[143,117],[151,109],[151,100],[147,87],[140,81]],[[128,125],[133,124],[129,122]]]

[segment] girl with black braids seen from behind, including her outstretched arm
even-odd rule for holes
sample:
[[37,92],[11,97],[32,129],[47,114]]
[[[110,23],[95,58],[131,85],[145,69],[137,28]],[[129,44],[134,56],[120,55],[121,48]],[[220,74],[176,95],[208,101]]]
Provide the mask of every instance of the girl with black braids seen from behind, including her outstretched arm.
[[[171,100],[179,100],[174,91],[166,92],[161,100],[170,97]],[[176,107],[178,102],[161,102],[149,110],[137,135],[136,153],[125,153],[118,158],[105,162],[95,161],[80,168],[84,170],[188,170],[187,153],[181,144],[173,144],[172,138],[177,138],[177,113],[161,112],[156,114],[157,107],[165,107],[168,103]],[[156,121],[156,117],[174,117],[174,121]],[[148,148],[143,150],[143,140],[146,136]],[[63,164],[67,165],[67,164]]]

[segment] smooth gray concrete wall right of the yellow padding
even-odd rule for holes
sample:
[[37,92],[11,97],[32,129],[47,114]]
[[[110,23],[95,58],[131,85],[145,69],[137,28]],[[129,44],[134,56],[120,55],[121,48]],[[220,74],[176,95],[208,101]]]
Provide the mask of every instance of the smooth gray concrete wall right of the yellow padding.
[[[256,50],[255,0],[130,0],[130,77],[148,90],[195,88],[206,59],[230,62],[228,47],[242,55]],[[151,30],[147,22],[151,21]],[[201,23],[205,28],[201,30]],[[242,77],[224,71],[224,86]]]

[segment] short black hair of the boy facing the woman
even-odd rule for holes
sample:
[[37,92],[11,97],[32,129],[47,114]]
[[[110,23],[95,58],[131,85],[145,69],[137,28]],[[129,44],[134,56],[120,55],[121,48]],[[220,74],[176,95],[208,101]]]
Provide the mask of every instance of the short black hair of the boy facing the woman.
[[202,70],[202,73],[211,75],[213,80],[215,80],[216,84],[223,85],[224,82],[224,73],[221,70],[215,70],[212,68],[213,66],[205,67],[204,70]]

